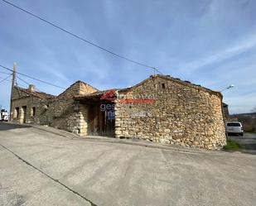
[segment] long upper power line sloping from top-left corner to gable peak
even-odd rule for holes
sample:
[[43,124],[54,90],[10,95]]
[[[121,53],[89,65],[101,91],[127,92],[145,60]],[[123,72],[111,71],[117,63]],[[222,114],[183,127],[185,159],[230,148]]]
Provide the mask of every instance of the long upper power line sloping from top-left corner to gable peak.
[[12,2],[7,2],[6,0],[2,0],[2,2],[6,2],[7,4],[11,5],[12,7],[16,7],[17,9],[21,10],[22,12],[26,12],[27,14],[31,15],[32,17],[36,17],[37,19],[41,20],[42,22],[46,22],[47,24],[50,24],[51,26],[56,27],[56,28],[59,29],[60,31],[64,31],[65,33],[69,34],[70,36],[74,36],[75,38],[80,39],[81,41],[84,41],[85,43],[87,43],[87,44],[89,44],[89,45],[91,45],[91,46],[95,46],[95,47],[99,48],[100,50],[104,50],[104,51],[108,52],[109,54],[115,55],[115,56],[117,56],[118,58],[121,58],[121,59],[123,59],[123,60],[128,60],[129,62],[132,62],[133,64],[141,65],[141,66],[143,66],[143,67],[147,67],[147,68],[150,68],[150,69],[154,69],[154,71],[157,71],[158,73],[162,74],[161,71],[159,71],[158,69],[156,69],[156,68],[153,67],[153,66],[145,65],[145,64],[140,63],[140,62],[138,62],[138,61],[136,61],[136,60],[129,59],[128,57],[125,57],[125,56],[123,56],[123,55],[118,55],[118,54],[115,53],[114,51],[111,51],[111,50],[108,50],[108,49],[106,49],[106,48],[104,48],[104,47],[102,47],[102,46],[99,46],[99,45],[95,44],[95,43],[92,42],[92,41],[88,41],[88,40],[86,40],[85,38],[83,38],[83,37],[81,37],[81,36],[78,36],[78,35],[72,33],[71,31],[68,31],[68,30],[66,30],[66,29],[64,29],[64,28],[62,28],[62,27],[60,27],[60,26],[57,26],[56,24],[54,24],[54,23],[52,23],[52,22],[49,22],[49,21],[47,21],[46,19],[44,19],[44,18],[42,18],[42,17],[39,17],[39,16],[37,16],[37,15],[34,14],[34,13],[28,12],[28,11],[25,10],[24,8],[17,6],[17,5],[15,5],[15,4],[13,4]]

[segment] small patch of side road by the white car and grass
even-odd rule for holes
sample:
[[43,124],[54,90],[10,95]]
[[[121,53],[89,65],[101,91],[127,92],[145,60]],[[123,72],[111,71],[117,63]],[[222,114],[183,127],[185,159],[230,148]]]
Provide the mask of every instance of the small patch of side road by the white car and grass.
[[228,137],[231,140],[237,141],[242,147],[243,152],[256,155],[256,134],[245,133],[244,136],[233,135]]

